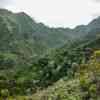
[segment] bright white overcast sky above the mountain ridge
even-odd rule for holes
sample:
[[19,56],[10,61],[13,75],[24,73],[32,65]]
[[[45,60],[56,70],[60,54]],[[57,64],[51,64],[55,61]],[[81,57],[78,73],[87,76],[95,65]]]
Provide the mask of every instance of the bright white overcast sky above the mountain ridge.
[[50,27],[74,28],[100,15],[100,0],[0,0],[0,8],[24,11]]

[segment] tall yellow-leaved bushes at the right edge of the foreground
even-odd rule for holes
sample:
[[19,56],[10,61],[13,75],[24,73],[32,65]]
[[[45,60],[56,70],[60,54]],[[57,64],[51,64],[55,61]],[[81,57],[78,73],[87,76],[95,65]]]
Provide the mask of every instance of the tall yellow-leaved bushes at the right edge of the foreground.
[[88,64],[80,66],[80,87],[83,94],[83,98],[92,98],[97,100],[98,95],[98,83],[100,79],[100,50],[95,51]]

